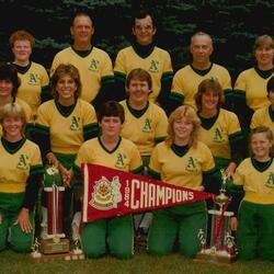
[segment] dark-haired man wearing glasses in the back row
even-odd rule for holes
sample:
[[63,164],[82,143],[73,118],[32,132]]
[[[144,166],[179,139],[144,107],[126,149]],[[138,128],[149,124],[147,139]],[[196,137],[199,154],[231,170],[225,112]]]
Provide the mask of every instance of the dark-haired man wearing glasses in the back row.
[[127,75],[136,68],[147,70],[152,78],[153,90],[149,101],[160,104],[165,109],[169,98],[173,69],[169,53],[153,43],[157,32],[152,13],[138,11],[133,18],[133,34],[135,42],[121,49],[114,64],[115,100],[126,96],[125,82]]

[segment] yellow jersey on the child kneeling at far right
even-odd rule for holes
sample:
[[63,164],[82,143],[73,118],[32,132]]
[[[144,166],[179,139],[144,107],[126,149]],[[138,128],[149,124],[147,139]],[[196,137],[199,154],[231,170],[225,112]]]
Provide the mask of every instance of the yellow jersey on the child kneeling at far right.
[[244,201],[256,204],[274,204],[274,161],[260,170],[251,158],[244,159],[236,169],[233,183],[242,185]]

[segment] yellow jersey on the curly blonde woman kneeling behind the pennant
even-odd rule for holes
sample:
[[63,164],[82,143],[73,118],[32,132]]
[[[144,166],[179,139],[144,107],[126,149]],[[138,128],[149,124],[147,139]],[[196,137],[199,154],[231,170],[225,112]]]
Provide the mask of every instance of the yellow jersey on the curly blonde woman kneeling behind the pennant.
[[153,149],[149,162],[149,172],[160,175],[161,181],[190,189],[202,185],[203,173],[210,173],[214,169],[213,155],[201,141],[183,155],[162,141]]

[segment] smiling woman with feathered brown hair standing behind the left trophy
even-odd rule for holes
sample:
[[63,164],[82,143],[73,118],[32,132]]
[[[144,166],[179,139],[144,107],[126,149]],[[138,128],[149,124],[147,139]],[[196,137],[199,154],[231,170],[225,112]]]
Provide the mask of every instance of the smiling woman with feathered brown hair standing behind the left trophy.
[[[41,147],[43,159],[57,167],[61,174],[66,187],[64,227],[69,236],[72,165],[82,142],[98,135],[98,123],[94,107],[79,99],[81,82],[75,66],[57,67],[52,78],[52,91],[54,100],[43,103],[37,111],[36,142]],[[45,206],[45,198],[43,201]],[[42,227],[46,228],[45,208],[43,212]]]

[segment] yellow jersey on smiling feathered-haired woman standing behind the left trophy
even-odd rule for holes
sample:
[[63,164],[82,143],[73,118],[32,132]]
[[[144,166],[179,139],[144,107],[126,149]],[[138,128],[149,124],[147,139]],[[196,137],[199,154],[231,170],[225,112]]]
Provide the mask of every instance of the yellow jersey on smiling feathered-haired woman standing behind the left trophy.
[[65,114],[58,103],[47,101],[38,107],[35,130],[49,136],[53,152],[76,155],[84,141],[84,132],[98,130],[94,107],[78,99]]

